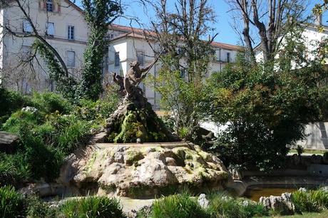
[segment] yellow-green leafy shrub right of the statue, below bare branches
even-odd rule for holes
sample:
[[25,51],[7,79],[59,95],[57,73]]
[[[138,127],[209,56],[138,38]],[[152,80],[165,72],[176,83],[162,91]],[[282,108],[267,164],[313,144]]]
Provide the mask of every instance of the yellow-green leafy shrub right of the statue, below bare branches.
[[203,100],[203,83],[188,83],[180,71],[169,68],[174,60],[170,56],[162,58],[163,67],[155,81],[154,88],[161,94],[161,106],[173,112],[173,130],[182,138],[193,140],[201,118],[200,106]]

